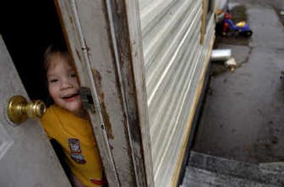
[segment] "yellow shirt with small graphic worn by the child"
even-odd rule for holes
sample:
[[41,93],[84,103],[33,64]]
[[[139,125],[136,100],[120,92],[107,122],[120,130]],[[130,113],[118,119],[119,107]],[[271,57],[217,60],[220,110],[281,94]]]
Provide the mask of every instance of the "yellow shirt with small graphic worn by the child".
[[102,186],[102,162],[89,121],[53,105],[41,123],[48,137],[61,145],[72,174],[85,186]]

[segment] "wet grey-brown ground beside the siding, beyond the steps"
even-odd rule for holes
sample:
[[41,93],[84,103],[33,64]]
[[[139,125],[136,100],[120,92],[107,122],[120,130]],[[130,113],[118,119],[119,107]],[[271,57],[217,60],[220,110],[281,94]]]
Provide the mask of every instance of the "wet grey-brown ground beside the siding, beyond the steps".
[[284,161],[284,1],[231,0],[229,7],[253,35],[217,35],[214,48],[231,49],[238,68],[212,62],[193,149],[243,162]]

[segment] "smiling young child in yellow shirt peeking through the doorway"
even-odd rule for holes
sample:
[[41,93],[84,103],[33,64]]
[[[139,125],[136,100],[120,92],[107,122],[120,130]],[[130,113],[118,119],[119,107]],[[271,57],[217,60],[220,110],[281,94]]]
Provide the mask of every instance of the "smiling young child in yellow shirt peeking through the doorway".
[[53,104],[41,122],[72,186],[104,186],[92,126],[82,108],[79,83],[67,50],[48,47],[45,76]]

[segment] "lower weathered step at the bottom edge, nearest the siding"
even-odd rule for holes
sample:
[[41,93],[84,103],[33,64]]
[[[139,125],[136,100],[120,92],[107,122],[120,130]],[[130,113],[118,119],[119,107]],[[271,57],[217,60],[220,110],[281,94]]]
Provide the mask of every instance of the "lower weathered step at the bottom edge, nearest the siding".
[[270,184],[258,183],[248,179],[217,174],[204,169],[187,166],[185,178],[180,187],[276,187]]

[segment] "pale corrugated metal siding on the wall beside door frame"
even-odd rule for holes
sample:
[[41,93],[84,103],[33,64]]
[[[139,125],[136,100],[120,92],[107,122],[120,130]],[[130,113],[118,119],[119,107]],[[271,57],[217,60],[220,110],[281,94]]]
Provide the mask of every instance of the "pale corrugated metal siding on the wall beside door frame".
[[155,186],[170,186],[200,80],[213,16],[200,45],[202,0],[140,0]]

